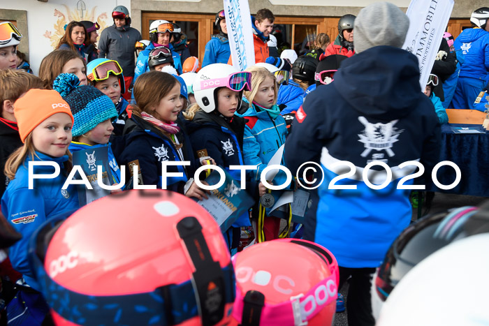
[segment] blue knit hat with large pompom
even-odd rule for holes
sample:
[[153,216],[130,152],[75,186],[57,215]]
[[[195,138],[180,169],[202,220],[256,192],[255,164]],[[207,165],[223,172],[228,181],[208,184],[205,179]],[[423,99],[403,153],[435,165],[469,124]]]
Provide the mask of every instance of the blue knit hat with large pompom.
[[61,73],[53,89],[70,105],[75,123],[73,137],[91,131],[101,122],[117,117],[112,100],[93,86],[79,86],[80,80],[71,73]]

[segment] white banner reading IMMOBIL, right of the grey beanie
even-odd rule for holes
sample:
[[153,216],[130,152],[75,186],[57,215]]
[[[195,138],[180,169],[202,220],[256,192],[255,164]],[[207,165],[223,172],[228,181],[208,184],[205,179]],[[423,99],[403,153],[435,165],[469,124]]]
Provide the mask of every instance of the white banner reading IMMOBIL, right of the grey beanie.
[[418,57],[422,90],[435,63],[453,3],[453,0],[411,0],[407,8],[409,29],[402,48]]

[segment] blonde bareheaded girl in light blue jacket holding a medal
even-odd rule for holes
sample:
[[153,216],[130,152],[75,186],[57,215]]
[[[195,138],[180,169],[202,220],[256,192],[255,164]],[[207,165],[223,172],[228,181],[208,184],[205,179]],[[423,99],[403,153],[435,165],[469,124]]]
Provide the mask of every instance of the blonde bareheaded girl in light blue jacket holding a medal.
[[[242,115],[247,119],[245,137],[243,138],[243,156],[246,165],[257,165],[253,171],[253,179],[259,184],[258,194],[265,193],[265,186],[260,183],[261,172],[268,162],[285,143],[287,128],[284,118],[280,115],[277,103],[277,82],[275,76],[267,69],[254,66],[247,68],[251,73],[251,91],[245,92],[249,99],[249,109]],[[275,184],[283,176],[277,175]],[[281,178],[282,179],[282,178]],[[284,181],[284,180],[283,180]],[[258,202],[258,198],[257,202]],[[252,210],[253,218],[258,219],[258,205]],[[255,214],[256,213],[256,214]],[[280,218],[266,216],[263,225],[258,223],[258,232],[262,232],[266,240],[279,237]]]

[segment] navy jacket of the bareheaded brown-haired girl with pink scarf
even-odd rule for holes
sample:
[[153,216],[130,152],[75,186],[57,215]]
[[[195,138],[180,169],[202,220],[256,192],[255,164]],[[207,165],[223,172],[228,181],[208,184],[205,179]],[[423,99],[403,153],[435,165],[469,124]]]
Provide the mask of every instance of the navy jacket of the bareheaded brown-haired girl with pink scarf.
[[[167,172],[182,172],[182,177],[166,177],[167,189],[183,193],[184,184],[194,176],[195,163],[189,138],[184,133],[177,133],[177,140],[182,144],[180,157],[173,142],[163,135],[153,124],[143,118],[132,114],[126,120],[124,135],[115,139],[116,146],[112,145],[115,158],[119,165],[126,168],[126,180],[131,175],[133,164],[139,165],[139,172],[143,177],[143,184],[156,185],[161,189],[163,161],[191,161],[190,166],[168,166]],[[121,145],[121,142],[124,145]]]

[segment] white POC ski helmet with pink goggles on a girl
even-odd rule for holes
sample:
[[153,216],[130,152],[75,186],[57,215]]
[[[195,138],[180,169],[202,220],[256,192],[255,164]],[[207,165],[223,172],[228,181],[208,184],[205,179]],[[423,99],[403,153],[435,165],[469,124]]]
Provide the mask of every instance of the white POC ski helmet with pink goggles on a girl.
[[[210,64],[198,71],[192,88],[196,102],[202,110],[210,113],[216,109],[217,89],[226,87],[226,84],[219,82],[219,79],[229,77],[234,73],[240,73],[240,71],[228,64]],[[251,83],[249,83],[247,90],[251,91]],[[242,90],[240,91],[238,108],[241,105],[241,96]]]

